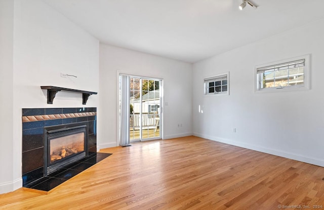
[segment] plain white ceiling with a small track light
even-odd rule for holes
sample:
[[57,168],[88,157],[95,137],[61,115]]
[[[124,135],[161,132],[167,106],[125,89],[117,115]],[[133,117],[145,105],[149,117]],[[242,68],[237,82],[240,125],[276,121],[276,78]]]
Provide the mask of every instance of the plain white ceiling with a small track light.
[[323,0],[43,0],[101,43],[194,63],[324,18]]

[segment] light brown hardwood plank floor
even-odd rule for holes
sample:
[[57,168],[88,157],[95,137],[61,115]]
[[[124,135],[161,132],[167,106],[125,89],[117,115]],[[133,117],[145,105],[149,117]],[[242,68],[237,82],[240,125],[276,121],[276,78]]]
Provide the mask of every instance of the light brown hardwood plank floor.
[[195,136],[132,145],[48,195],[0,195],[0,209],[324,209],[323,167]]

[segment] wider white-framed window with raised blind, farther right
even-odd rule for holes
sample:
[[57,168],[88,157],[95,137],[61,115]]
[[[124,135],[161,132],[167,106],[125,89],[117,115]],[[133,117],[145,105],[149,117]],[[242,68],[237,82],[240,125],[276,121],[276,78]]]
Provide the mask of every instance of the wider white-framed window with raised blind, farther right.
[[256,91],[308,89],[309,55],[256,66]]

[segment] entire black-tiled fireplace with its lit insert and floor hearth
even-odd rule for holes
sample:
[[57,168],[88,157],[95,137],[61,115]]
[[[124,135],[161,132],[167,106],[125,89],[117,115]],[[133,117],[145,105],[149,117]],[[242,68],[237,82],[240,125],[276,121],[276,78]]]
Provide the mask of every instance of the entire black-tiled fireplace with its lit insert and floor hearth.
[[50,192],[109,155],[97,153],[97,108],[22,109],[24,188]]

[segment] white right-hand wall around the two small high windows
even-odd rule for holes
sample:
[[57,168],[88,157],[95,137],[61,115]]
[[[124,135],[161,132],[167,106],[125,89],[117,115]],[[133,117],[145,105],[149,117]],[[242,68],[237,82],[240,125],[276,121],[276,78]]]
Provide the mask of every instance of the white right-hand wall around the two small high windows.
[[[323,37],[322,19],[195,63],[194,134],[324,166]],[[254,93],[256,65],[305,54],[311,54],[310,90]],[[204,77],[227,71],[230,95],[203,97]]]

